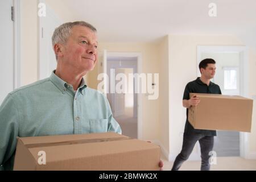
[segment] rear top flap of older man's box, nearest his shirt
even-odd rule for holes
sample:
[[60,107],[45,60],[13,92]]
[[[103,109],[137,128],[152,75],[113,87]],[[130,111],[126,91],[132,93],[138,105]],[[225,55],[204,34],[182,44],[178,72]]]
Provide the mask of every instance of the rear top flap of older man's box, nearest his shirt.
[[19,138],[24,145],[27,144],[39,144],[39,143],[61,143],[71,142],[74,140],[84,139],[107,139],[107,138],[129,138],[125,135],[120,135],[113,132],[108,133],[90,133],[90,134],[77,134],[77,135],[53,135],[53,136],[42,136],[42,137],[23,137]]

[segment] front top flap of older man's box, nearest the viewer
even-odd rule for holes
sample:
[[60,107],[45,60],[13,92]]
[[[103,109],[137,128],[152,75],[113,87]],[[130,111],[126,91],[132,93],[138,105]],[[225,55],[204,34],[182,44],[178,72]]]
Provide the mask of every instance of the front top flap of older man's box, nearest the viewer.
[[96,158],[97,156],[108,156],[113,154],[124,154],[128,152],[159,150],[159,146],[142,140],[129,139],[115,140],[112,142],[81,143],[69,145],[28,148],[34,159],[38,160],[38,152],[46,152],[47,163],[60,162],[73,159]]

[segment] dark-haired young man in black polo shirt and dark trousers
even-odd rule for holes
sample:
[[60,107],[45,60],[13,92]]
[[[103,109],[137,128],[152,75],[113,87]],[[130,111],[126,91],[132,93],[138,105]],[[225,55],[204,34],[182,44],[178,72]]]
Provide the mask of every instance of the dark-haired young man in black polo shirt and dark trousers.
[[185,86],[183,106],[187,108],[187,120],[185,123],[182,149],[175,159],[174,166],[172,167],[173,171],[179,170],[181,164],[188,159],[197,141],[199,141],[201,148],[201,170],[206,171],[210,169],[209,152],[213,150],[213,137],[216,136],[216,131],[194,129],[188,121],[188,108],[200,103],[199,97],[195,95],[189,98],[189,93],[221,94],[220,86],[210,81],[216,72],[215,64],[216,62],[213,59],[204,59],[201,61],[199,64],[201,77],[189,82]]

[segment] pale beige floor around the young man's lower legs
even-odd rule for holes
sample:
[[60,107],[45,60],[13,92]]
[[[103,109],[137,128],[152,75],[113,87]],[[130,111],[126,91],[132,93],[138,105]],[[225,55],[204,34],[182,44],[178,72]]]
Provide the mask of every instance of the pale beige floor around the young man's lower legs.
[[[169,171],[172,168],[173,162],[162,157],[164,171]],[[186,161],[180,168],[180,171],[199,171],[200,161]],[[213,164],[210,168],[211,171],[255,171],[256,160],[243,159],[241,157],[217,157],[217,164]]]

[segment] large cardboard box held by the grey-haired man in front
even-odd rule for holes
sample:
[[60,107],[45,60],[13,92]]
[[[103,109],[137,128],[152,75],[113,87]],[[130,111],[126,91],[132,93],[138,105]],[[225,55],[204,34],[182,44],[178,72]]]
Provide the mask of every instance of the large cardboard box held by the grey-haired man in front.
[[159,160],[159,146],[125,135],[55,135],[18,138],[14,170],[159,170]]

